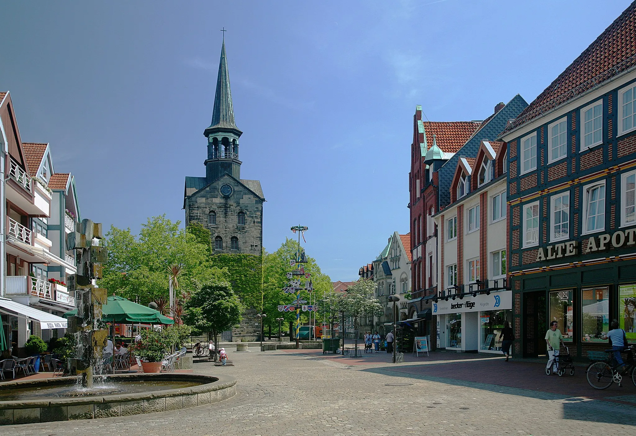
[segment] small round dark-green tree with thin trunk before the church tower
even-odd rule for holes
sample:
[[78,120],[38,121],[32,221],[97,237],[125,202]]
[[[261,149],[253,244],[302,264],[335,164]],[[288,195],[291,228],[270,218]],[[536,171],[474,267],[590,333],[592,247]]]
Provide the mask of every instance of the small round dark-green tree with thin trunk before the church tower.
[[243,306],[226,281],[214,281],[196,290],[186,302],[184,320],[195,332],[210,332],[218,349],[218,335],[238,324]]

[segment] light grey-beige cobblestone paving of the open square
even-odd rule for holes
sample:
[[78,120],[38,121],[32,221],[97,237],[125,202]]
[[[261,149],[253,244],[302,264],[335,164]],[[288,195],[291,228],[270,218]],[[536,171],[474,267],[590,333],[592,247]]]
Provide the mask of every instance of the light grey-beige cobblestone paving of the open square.
[[[348,365],[345,359],[324,359],[322,353],[230,355],[234,367],[195,365],[200,374],[223,372],[239,379],[239,394],[225,402],[126,418],[2,426],[0,432],[3,436],[636,434],[636,407],[627,404],[432,377],[426,374],[426,365],[418,371],[408,363]],[[499,360],[478,363],[488,362],[492,368],[480,371],[496,372],[496,365],[501,366]],[[634,395],[636,388],[626,384],[619,392]]]

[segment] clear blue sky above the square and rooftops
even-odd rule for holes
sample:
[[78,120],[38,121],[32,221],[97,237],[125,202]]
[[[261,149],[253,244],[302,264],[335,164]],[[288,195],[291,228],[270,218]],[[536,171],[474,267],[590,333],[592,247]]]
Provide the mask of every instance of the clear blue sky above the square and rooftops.
[[265,248],[307,225],[308,255],[352,280],[408,232],[415,105],[453,121],[530,102],[629,3],[3,1],[0,89],[22,139],[51,143],[55,170],[75,174],[83,218],[183,222],[225,27]]

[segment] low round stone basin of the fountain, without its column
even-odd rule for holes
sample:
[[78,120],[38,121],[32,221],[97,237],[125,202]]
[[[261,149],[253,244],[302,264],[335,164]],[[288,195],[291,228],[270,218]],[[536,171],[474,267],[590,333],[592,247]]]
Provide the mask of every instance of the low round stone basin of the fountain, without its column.
[[[60,391],[71,391],[77,377],[4,382],[0,383],[0,398],[20,399],[0,401],[0,425],[109,418],[172,411],[216,403],[236,394],[236,379],[230,376],[212,377],[174,373],[118,374],[107,376],[106,380],[118,386],[145,384],[149,389],[128,393],[57,396]],[[122,383],[118,384],[118,382]],[[172,386],[185,387],[171,389],[171,382]],[[193,383],[196,384],[193,385]],[[159,389],[155,389],[157,387]],[[34,394],[29,395],[25,389],[32,390]],[[51,390],[51,395],[47,395],[47,390]],[[31,399],[21,399],[24,397]]]

